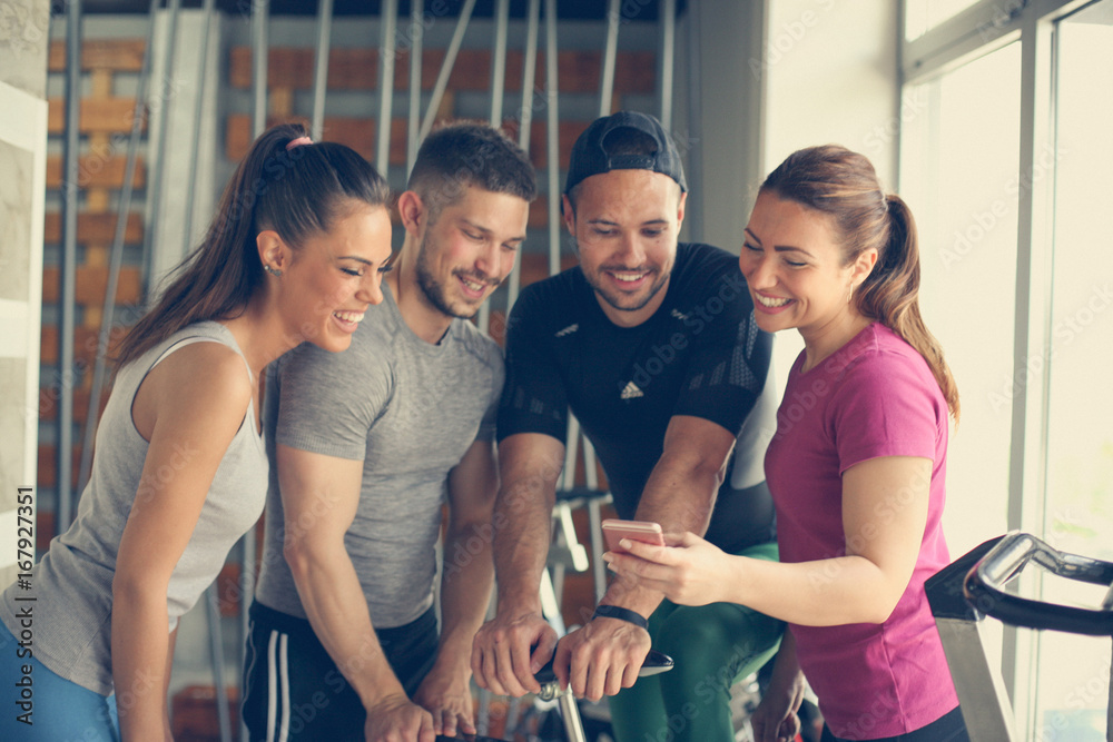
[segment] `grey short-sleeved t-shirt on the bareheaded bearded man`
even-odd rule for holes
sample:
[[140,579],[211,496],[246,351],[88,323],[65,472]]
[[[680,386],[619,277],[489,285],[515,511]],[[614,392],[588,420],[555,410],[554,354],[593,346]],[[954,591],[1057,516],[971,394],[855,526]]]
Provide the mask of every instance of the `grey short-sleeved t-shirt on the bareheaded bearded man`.
[[[406,326],[385,283],[383,295],[347,350],[303,344],[273,365],[264,424],[268,444],[363,461],[344,545],[376,629],[410,623],[432,605],[449,472],[475,441],[494,437],[503,383],[502,350],[470,321],[453,320],[431,345]],[[282,555],[286,525],[270,468],[256,598],[305,619]]]

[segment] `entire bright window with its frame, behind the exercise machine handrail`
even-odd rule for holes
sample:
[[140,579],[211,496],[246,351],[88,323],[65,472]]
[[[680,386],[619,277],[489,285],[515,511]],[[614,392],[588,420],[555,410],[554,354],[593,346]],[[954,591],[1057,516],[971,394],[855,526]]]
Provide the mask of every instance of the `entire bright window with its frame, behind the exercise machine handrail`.
[[[904,7],[918,40],[903,47],[903,95],[918,112],[902,117],[899,190],[963,406],[952,553],[1018,527],[1113,562],[1113,0]],[[1046,577],[1021,592],[1096,607],[1107,588]],[[1002,636],[1018,739],[1105,739],[1107,637]]]

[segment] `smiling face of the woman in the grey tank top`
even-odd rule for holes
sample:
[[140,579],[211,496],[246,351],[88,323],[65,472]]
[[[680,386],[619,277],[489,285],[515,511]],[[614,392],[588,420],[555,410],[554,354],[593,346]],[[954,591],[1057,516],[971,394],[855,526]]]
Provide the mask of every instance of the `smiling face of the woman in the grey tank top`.
[[[278,279],[280,311],[293,335],[326,350],[344,350],[367,307],[383,300],[390,270],[391,218],[382,206],[354,201],[329,231],[314,235]],[[273,234],[273,233],[270,233]]]

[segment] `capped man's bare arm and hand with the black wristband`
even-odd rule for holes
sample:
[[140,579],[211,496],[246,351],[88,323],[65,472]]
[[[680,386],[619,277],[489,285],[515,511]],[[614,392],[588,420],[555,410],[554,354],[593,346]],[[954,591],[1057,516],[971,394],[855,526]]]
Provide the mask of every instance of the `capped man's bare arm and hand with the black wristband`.
[[[660,523],[666,533],[707,531],[733,444],[735,436],[717,423],[674,416],[642,491],[638,520]],[[600,603],[649,617],[662,598],[659,592],[614,581]],[[594,701],[633,685],[649,649],[643,629],[618,619],[594,619],[561,642],[554,669],[575,695]]]

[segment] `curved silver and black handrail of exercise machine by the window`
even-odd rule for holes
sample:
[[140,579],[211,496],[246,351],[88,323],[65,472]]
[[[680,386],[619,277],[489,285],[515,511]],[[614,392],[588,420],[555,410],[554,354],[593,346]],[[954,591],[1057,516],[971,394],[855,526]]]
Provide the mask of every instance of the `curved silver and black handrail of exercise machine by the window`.
[[979,612],[1013,626],[1113,636],[1113,591],[1097,609],[1047,603],[1005,592],[1005,585],[1033,562],[1067,580],[1106,587],[1113,584],[1113,563],[1060,552],[1031,534],[1013,531],[966,574],[963,583],[966,600]]

